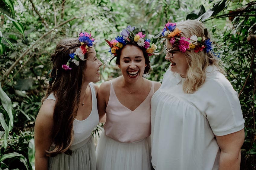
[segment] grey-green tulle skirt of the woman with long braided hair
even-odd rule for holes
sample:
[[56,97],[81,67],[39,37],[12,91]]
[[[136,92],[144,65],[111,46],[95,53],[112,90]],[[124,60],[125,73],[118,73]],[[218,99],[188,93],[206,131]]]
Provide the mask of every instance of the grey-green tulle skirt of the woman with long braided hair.
[[[53,149],[51,147],[51,149]],[[49,170],[96,170],[95,145],[92,136],[72,145],[72,155],[65,153],[49,157]]]

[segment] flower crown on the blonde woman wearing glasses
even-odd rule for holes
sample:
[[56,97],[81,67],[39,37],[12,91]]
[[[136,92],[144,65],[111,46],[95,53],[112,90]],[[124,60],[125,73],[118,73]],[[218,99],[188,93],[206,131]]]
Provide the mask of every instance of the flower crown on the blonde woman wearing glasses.
[[[162,32],[162,38],[170,39],[170,43],[178,43],[179,50],[183,53],[186,50],[194,50],[195,53],[199,51],[205,51],[206,53],[212,52],[215,56],[216,53],[213,52],[212,42],[210,38],[207,38],[207,29],[204,29],[204,36],[197,37],[197,35],[192,35],[190,38],[181,37],[181,30],[176,28],[176,23],[168,22],[165,24]],[[217,56],[219,57],[219,56]]]

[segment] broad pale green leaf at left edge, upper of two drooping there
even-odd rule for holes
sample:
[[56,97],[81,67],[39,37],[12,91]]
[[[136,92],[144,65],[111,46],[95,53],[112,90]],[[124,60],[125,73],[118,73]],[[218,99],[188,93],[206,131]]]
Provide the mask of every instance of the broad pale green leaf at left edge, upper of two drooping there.
[[1,83],[0,83],[0,99],[1,99],[3,107],[5,108],[8,116],[9,116],[9,125],[8,125],[8,127],[9,127],[9,131],[11,131],[12,128],[13,128],[13,115],[12,115],[12,112],[11,112],[11,99],[2,90]]

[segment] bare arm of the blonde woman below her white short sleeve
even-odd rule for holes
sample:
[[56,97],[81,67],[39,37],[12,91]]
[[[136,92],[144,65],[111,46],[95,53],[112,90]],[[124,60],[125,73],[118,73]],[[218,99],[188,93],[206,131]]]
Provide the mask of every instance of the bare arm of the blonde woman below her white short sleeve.
[[220,147],[219,170],[239,170],[241,147],[245,140],[244,129],[224,136],[216,136]]

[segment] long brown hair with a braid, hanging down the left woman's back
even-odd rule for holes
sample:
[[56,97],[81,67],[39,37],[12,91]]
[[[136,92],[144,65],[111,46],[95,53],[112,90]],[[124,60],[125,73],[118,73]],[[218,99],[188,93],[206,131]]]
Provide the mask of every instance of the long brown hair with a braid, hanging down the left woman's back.
[[[67,63],[70,59],[69,54],[74,53],[79,46],[78,38],[63,39],[57,44],[55,53],[51,55],[53,67],[42,103],[51,93],[56,96],[51,134],[55,148],[51,151],[47,150],[47,156],[56,156],[59,153],[72,154],[69,148],[74,138],[73,121],[78,111],[86,60],[80,60],[79,66],[70,63],[72,70],[66,71],[62,65]],[[85,53],[85,59],[87,54]]]

